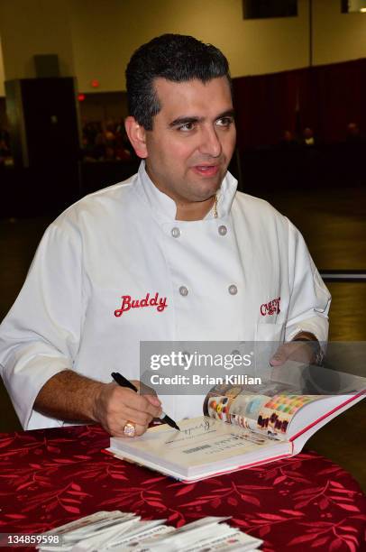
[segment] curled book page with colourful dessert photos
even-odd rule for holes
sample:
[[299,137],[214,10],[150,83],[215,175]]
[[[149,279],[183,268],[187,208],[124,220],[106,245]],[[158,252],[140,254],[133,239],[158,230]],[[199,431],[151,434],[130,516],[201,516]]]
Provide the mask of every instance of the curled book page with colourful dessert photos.
[[258,393],[240,385],[218,385],[204,402],[204,414],[270,438],[287,440],[288,425],[298,409],[317,395],[294,394],[283,384],[268,383]]

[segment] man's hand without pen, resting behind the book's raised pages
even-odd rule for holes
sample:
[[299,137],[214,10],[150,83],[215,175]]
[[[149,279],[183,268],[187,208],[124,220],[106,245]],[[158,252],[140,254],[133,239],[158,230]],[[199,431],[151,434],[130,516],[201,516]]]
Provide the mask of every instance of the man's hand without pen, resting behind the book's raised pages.
[[276,353],[270,359],[271,366],[282,366],[288,360],[302,364],[316,363],[316,350],[319,342],[316,336],[301,332],[293,341],[279,345]]

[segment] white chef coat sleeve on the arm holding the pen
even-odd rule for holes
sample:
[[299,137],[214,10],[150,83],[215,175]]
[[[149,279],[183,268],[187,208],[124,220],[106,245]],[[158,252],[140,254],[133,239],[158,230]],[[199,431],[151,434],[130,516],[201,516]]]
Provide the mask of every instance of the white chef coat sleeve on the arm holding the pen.
[[1,375],[24,429],[61,424],[32,407],[44,383],[72,368],[78,352],[84,312],[81,253],[75,227],[50,225],[0,327]]

